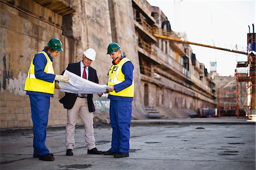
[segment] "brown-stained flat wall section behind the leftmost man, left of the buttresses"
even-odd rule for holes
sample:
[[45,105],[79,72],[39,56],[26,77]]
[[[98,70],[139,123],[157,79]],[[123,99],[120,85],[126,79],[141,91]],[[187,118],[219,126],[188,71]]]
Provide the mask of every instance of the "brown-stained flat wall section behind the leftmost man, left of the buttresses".
[[[32,57],[42,51],[52,37],[62,40],[64,49],[68,47],[62,35],[62,17],[53,13],[38,3],[30,1],[24,4],[16,1],[15,6],[0,2],[0,112],[1,128],[32,126],[30,101],[25,94],[24,82]],[[26,9],[22,11],[20,9]],[[52,16],[51,21],[43,20]],[[60,73],[63,65],[64,53],[54,61],[56,73]],[[49,125],[63,125],[65,110],[57,101],[60,93],[56,90],[51,99]]]

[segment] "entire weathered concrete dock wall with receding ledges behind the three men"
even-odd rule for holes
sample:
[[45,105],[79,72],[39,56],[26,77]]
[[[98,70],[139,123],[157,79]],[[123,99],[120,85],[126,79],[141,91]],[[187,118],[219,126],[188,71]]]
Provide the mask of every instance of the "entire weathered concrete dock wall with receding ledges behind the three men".
[[[210,78],[204,77],[204,65],[199,61],[193,68],[191,47],[160,39],[156,43],[150,27],[162,27],[167,18],[155,8],[151,13],[146,0],[1,0],[0,128],[32,127],[24,83],[32,57],[53,37],[59,38],[64,48],[53,61],[55,73],[63,72],[68,63],[80,61],[82,52],[91,47],[97,52],[92,67],[97,70],[100,84],[108,82],[112,65],[106,54],[109,43],[121,45],[122,54],[134,65],[134,119],[147,118],[144,106],[156,107],[162,118],[184,118],[188,116],[184,110],[214,108]],[[189,62],[184,56],[189,56]],[[55,90],[51,98],[49,126],[67,123],[67,110],[59,103],[63,96],[64,92]],[[109,122],[109,100],[94,95],[94,105],[94,121]],[[77,123],[82,123],[80,118]]]

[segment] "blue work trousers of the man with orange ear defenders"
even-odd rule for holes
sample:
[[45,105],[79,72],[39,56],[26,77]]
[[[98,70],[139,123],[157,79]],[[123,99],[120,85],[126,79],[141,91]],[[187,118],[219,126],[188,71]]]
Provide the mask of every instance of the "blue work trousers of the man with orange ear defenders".
[[110,150],[129,154],[131,102],[110,100],[112,144]]

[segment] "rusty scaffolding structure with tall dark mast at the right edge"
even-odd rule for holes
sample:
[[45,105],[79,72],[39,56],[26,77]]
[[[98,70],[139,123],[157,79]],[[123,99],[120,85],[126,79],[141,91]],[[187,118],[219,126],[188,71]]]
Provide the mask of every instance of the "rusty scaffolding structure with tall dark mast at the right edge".
[[[255,33],[253,24],[253,33],[247,34],[247,61],[238,61],[235,79],[219,89],[218,94],[218,117],[221,117],[221,109],[224,107],[236,108],[237,118],[241,112],[245,113],[248,118],[256,117],[256,58],[255,58]],[[238,52],[241,53],[241,52]],[[228,86],[234,87],[236,80],[236,91],[227,91]],[[233,88],[234,89],[234,88]],[[230,98],[225,98],[226,94],[230,94]],[[234,96],[236,96],[236,105],[234,105]],[[233,101],[232,105],[225,105],[225,100]]]

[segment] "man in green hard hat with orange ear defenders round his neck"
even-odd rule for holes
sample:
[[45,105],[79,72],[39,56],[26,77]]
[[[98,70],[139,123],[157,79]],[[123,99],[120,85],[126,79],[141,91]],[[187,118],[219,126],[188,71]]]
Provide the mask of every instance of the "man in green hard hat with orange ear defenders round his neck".
[[134,97],[133,63],[122,56],[121,47],[110,43],[108,54],[112,58],[109,69],[109,88],[106,89],[110,99],[110,123],[112,126],[112,143],[104,155],[114,155],[115,158],[128,157],[130,151],[131,102]]

